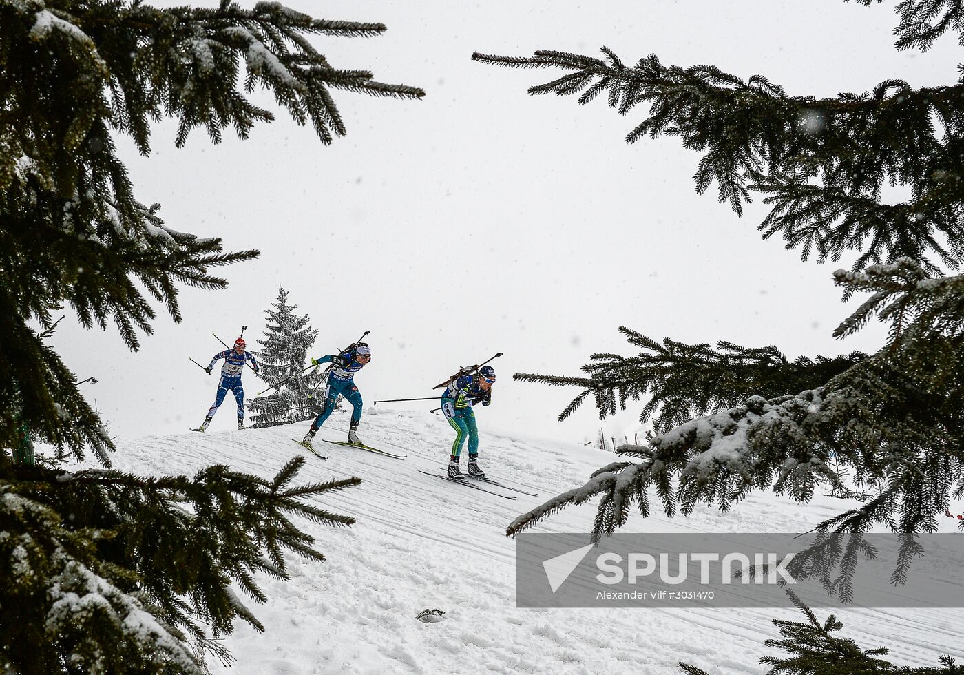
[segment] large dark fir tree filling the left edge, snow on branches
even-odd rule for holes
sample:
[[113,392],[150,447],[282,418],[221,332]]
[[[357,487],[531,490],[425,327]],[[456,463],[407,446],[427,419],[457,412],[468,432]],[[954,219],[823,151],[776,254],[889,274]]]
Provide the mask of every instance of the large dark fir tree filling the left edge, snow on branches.
[[274,119],[252,102],[263,87],[330,143],[345,133],[335,92],[423,94],[312,44],[383,31],[274,2],[0,0],[0,671],[201,673],[205,653],[227,656],[211,638],[236,619],[261,630],[231,584],[264,602],[255,572],[286,579],[285,553],[322,558],[292,516],[353,522],[307,499],[359,480],[294,485],[300,457],[274,480],[66,471],[88,448],[109,468],[114,444],[46,338],[69,305],[136,350],[148,299],[179,321],[179,284],[223,288],[210,268],[257,255],[166,225],[135,195],[117,135],[144,154],[165,118],[178,147],[195,127],[245,138]]

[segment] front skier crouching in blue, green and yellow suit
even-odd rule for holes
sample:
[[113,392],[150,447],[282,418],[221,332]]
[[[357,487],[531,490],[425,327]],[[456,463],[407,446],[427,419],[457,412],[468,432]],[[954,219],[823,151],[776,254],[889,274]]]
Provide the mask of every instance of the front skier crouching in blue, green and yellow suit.
[[495,383],[495,368],[483,365],[474,375],[462,375],[448,383],[442,393],[442,415],[455,429],[455,441],[452,443],[452,454],[448,458],[448,477],[464,478],[459,471],[459,456],[462,446],[469,436],[469,476],[485,478],[485,473],[479,469],[479,431],[475,425],[473,403],[488,406],[492,403],[492,386]]

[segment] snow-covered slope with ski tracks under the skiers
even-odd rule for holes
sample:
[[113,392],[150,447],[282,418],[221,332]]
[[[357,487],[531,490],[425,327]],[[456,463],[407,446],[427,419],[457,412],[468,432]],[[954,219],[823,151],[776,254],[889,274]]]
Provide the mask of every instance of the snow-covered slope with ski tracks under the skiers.
[[[408,455],[405,461],[315,441],[328,461],[291,438],[307,423],[224,430],[215,418],[204,435],[120,441],[115,467],[137,473],[194,473],[214,463],[266,477],[291,456],[308,462],[304,482],[357,475],[362,485],[325,503],[358,522],[331,529],[304,523],[328,557],[313,563],[292,556],[288,582],[262,578],[270,598],[254,606],[267,628],[241,624],[227,638],[238,662],[213,672],[241,675],[302,673],[572,672],[669,673],[693,662],[710,673],[763,672],[763,640],[776,637],[770,619],[797,618],[793,610],[520,609],[515,606],[515,542],[505,527],[529,507],[570,489],[612,461],[593,448],[495,432],[480,413],[480,464],[538,488],[539,497],[504,500],[417,470],[442,473],[452,431],[429,413],[366,411],[359,430],[373,446]],[[319,438],[341,441],[347,419],[335,414]],[[391,444],[391,445],[388,445]],[[463,467],[464,468],[464,467]],[[514,494],[514,493],[509,493]],[[804,531],[839,512],[841,500],[819,498],[800,507],[757,495],[729,514],[710,509],[689,519],[630,521],[629,531]],[[542,531],[588,531],[595,509],[570,508]],[[948,521],[950,531],[953,522]],[[415,614],[441,608],[437,623]],[[837,612],[844,635],[864,648],[887,643],[897,662],[935,664],[961,655],[964,610],[886,609]],[[817,610],[824,617],[825,611]]]

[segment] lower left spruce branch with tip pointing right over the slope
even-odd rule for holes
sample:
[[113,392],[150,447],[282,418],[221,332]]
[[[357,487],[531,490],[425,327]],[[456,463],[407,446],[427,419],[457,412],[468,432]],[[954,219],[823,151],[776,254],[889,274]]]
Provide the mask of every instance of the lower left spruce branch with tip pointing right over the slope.
[[[271,480],[222,465],[206,467],[193,478],[36,470],[35,482],[16,491],[52,513],[84,508],[98,514],[104,532],[98,536],[117,542],[112,565],[134,575],[140,590],[177,629],[203,636],[192,620],[198,617],[218,637],[231,632],[235,618],[262,630],[250,610],[238,607],[231,581],[263,603],[266,597],[254,573],[286,580],[285,550],[325,559],[292,516],[328,527],[354,523],[309,499],[356,486],[360,479],[294,484],[303,465],[303,458],[294,458]],[[32,486],[37,486],[36,494]]]

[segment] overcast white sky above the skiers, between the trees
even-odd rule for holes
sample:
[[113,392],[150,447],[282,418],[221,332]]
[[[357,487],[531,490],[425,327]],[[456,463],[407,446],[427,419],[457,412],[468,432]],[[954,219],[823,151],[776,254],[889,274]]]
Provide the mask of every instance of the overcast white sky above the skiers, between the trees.
[[[273,103],[277,121],[248,141],[227,135],[212,146],[196,130],[177,149],[172,123],[155,128],[147,158],[120,141],[135,194],[161,202],[169,226],[261,257],[222,268],[225,291],[184,289],[183,322],[159,309],[138,353],[115,330],[84,331],[68,314],[54,343],[79,379],[99,380],[84,392],[116,435],[200,423],[218,380],[188,357],[205,364],[222,349],[212,331],[230,342],[247,324],[250,345],[262,337],[279,284],[320,329],[314,354],[371,331],[373,360],[356,378],[366,406],[433,395],[459,365],[504,352],[493,362],[494,405],[477,416],[483,452],[487,428],[583,441],[603,426],[631,440],[642,403],[601,423],[590,402],[560,423],[577,389],[511,379],[576,375],[594,352],[632,353],[617,333],[623,324],[653,338],[776,344],[790,358],[879,345],[875,326],[844,342],[831,337],[851,309],[831,274],[849,262],[801,262],[782,241],[761,240],[761,207],[740,219],[714,188],[697,196],[699,157],[677,140],[627,146],[642,111],[620,118],[602,98],[578,106],[573,97],[532,97],[526,88],[558,71],[506,70],[470,56],[598,54],[604,44],[628,63],[653,52],[667,65],[762,73],[790,94],[864,92],[890,77],[953,81],[954,40],[924,54],[893,48],[894,2],[286,4],[386,23],[379,38],[318,41],[335,66],[369,68],[426,96],[336,93],[348,136],[327,148]],[[248,398],[264,387],[245,375]],[[233,424],[228,395],[212,430]]]

